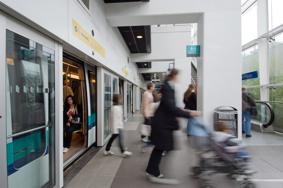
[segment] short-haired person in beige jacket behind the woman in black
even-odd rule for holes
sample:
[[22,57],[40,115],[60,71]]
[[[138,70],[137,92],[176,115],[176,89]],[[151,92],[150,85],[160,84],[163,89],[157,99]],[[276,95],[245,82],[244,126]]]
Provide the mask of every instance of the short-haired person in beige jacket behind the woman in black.
[[[145,125],[151,125],[151,118],[154,116],[154,98],[152,91],[154,90],[154,83],[147,84],[147,90],[142,95],[141,115],[145,116]],[[144,135],[141,135],[142,142],[148,142]]]

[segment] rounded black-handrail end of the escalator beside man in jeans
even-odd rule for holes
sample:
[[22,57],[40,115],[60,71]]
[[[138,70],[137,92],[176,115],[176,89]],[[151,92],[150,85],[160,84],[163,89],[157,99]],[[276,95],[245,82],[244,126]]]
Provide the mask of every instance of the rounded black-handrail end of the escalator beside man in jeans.
[[262,133],[274,133],[272,123],[275,113],[273,107],[264,101],[255,101],[257,115],[251,117],[251,129]]

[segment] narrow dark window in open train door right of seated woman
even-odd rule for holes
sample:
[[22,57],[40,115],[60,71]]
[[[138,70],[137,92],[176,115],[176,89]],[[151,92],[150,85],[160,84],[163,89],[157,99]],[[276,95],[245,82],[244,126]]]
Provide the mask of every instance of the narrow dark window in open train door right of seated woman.
[[90,94],[90,126],[93,128],[96,125],[96,77],[95,73],[88,71],[89,77],[89,94]]

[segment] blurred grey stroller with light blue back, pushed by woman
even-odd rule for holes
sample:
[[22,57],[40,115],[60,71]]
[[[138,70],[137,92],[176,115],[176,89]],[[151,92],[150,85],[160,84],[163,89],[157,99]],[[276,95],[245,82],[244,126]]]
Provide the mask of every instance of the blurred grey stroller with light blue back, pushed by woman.
[[[204,126],[201,117],[193,118],[193,125],[191,126],[191,145],[200,158],[198,166],[193,168],[192,175],[202,181],[201,188],[213,188],[214,173],[227,173],[229,177],[234,179],[241,177],[244,188],[254,188],[255,184],[250,181],[248,175],[245,173],[245,166],[243,160],[250,156],[238,156],[238,151],[245,149],[245,146],[229,146],[213,141],[213,132],[208,132],[208,127]],[[218,157],[213,155],[216,153]],[[251,174],[250,174],[251,175]]]

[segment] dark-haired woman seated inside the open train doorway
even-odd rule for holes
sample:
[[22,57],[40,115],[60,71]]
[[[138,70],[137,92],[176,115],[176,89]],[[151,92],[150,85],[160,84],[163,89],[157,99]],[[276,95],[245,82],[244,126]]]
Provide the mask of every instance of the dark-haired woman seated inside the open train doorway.
[[[83,118],[83,110],[79,104],[76,104],[72,95],[68,95],[64,102],[63,110],[63,153],[67,153],[71,146],[73,132],[81,128],[81,123],[72,123],[72,118]],[[66,136],[65,136],[66,132]]]

